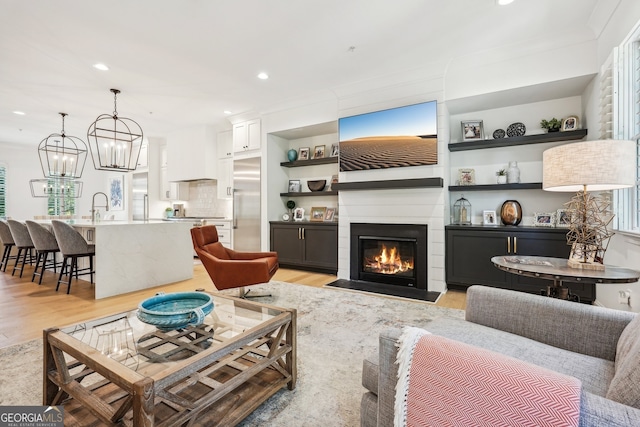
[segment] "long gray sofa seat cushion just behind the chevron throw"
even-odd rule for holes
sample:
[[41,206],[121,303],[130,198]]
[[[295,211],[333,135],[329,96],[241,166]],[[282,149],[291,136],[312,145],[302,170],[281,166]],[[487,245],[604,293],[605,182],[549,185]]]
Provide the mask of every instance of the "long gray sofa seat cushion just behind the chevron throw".
[[573,376],[582,382],[585,391],[599,396],[607,394],[609,383],[615,373],[612,361],[563,350],[461,319],[437,318],[432,320],[427,328],[436,335]]

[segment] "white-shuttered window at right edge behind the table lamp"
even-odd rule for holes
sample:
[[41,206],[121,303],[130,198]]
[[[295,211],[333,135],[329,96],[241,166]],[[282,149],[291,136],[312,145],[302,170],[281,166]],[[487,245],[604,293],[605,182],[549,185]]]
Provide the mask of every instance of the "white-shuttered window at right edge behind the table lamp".
[[614,133],[636,141],[636,185],[614,194],[619,231],[640,233],[640,23],[614,52]]

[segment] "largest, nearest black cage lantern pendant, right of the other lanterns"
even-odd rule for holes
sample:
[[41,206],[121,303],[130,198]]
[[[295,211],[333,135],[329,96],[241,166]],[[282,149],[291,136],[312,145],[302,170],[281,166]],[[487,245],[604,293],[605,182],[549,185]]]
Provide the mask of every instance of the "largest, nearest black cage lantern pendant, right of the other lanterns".
[[142,128],[131,119],[118,117],[117,97],[113,92],[113,114],[102,114],[89,126],[87,139],[96,170],[133,171],[142,148]]

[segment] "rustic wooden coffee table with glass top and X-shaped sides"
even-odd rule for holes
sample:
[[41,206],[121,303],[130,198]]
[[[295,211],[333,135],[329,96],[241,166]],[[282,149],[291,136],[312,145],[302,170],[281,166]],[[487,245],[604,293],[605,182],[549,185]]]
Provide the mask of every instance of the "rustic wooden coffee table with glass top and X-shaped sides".
[[296,385],[296,310],[212,294],[199,326],[136,310],[44,331],[44,405],[65,424],[229,425]]

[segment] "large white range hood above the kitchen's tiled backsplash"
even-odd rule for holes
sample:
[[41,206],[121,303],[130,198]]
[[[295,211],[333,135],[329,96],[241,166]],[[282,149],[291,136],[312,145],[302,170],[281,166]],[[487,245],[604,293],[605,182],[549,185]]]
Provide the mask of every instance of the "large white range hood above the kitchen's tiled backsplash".
[[211,126],[196,126],[167,136],[169,181],[216,179],[216,134]]

